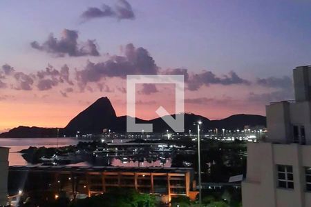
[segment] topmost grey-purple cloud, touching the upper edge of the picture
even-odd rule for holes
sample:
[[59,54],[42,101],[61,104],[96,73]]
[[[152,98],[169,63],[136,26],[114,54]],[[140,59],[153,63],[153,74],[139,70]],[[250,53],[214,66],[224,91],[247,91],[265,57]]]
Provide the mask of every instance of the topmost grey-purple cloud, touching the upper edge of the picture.
[[135,14],[131,4],[125,0],[118,0],[117,3],[115,3],[114,8],[103,3],[101,8],[90,7],[81,14],[83,21],[106,17],[116,18],[119,20],[135,19]]

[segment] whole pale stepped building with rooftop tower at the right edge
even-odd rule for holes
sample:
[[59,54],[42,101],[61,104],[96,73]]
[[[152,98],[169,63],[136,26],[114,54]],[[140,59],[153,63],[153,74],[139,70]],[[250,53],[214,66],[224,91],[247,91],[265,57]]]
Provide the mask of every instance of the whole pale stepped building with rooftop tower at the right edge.
[[311,206],[311,66],[293,74],[295,101],[266,106],[267,138],[247,145],[243,207]]

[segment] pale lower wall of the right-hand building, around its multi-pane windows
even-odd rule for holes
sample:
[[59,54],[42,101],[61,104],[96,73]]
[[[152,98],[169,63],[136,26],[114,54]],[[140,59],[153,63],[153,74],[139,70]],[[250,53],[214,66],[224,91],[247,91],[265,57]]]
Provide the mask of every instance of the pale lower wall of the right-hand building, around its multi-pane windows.
[[[242,182],[243,207],[311,206],[311,192],[305,190],[304,170],[311,166],[311,146],[249,143],[247,154],[247,177]],[[294,189],[278,188],[278,164],[293,167]]]

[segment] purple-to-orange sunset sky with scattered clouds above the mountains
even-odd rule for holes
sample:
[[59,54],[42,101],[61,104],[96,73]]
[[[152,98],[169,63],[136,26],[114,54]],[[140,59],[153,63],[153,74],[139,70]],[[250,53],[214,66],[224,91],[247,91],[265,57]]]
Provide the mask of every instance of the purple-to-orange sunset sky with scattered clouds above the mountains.
[[[311,1],[0,1],[0,132],[64,127],[100,97],[126,115],[126,75],[184,75],[185,111],[265,115],[310,64]],[[173,113],[173,85],[137,86],[136,116]]]

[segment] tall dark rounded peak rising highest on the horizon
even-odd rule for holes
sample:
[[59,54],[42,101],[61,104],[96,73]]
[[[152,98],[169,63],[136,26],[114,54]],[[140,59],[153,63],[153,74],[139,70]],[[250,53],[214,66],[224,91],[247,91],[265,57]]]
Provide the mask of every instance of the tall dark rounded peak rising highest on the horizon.
[[110,100],[107,97],[102,97],[69,121],[64,128],[64,133],[75,135],[79,131],[83,134],[99,134],[104,128],[113,127],[116,119],[117,115],[115,115]]

